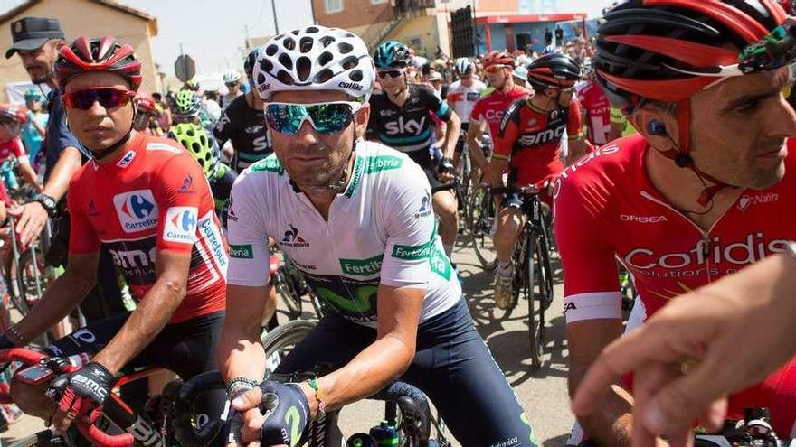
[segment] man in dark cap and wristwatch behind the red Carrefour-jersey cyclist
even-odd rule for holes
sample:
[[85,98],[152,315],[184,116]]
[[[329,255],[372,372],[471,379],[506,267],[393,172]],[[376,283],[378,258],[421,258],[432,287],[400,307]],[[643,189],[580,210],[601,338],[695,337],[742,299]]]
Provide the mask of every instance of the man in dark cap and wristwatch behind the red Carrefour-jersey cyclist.
[[[80,169],[85,159],[81,155],[81,144],[66,126],[61,91],[55,87],[53,81],[55,61],[64,44],[61,23],[58,19],[23,17],[11,23],[11,35],[14,45],[5,51],[5,59],[18,54],[31,81],[34,84],[47,84],[52,89],[47,95],[50,121],[47,123],[42,145],[46,156],[44,188],[33,201],[9,210],[9,214],[17,219],[15,229],[20,241],[24,246],[29,246],[42,233],[48,216],[55,214],[57,204],[64,198],[72,175]],[[53,220],[53,223],[55,232],[47,261],[52,265],[62,265],[69,247],[69,217]],[[100,253],[97,272],[99,284],[81,305],[81,311],[88,321],[98,321],[125,311],[112,259],[107,249]]]

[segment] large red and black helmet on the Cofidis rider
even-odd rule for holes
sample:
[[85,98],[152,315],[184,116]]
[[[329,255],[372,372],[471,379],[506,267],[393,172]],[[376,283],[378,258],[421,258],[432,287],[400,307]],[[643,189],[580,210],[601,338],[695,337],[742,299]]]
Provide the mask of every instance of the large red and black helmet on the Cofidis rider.
[[698,72],[737,64],[739,51],[785,22],[778,1],[622,0],[598,29],[597,79],[621,108],[690,98],[718,80]]

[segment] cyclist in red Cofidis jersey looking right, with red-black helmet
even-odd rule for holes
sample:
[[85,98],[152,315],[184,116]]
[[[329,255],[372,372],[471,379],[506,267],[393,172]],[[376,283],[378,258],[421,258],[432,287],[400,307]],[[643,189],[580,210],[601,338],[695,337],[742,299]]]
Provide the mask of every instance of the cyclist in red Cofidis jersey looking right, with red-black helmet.
[[[791,23],[772,0],[630,0],[605,14],[597,80],[641,135],[602,147],[556,184],[571,392],[621,335],[615,258],[639,292],[632,326],[796,239],[796,166],[787,157],[796,146],[786,144],[796,114],[782,95],[796,51],[777,37],[790,35]],[[782,34],[769,35],[781,24]],[[684,348],[683,360],[699,356]],[[601,445],[630,445],[634,396],[619,383],[600,411],[578,418]],[[771,407],[777,433],[792,436],[796,363],[730,405],[731,417]]]

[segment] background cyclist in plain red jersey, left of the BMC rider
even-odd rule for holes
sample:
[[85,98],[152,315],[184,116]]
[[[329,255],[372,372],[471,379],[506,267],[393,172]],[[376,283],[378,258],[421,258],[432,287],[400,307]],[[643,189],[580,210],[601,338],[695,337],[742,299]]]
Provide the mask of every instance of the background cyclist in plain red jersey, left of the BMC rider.
[[514,56],[506,51],[492,51],[484,58],[484,73],[493,88],[487,96],[480,98],[473,106],[467,129],[467,148],[476,166],[485,168],[487,157],[481,149],[481,133],[488,126],[492,141],[498,137],[500,120],[511,104],[530,94],[525,88],[517,87],[511,73],[514,71]]

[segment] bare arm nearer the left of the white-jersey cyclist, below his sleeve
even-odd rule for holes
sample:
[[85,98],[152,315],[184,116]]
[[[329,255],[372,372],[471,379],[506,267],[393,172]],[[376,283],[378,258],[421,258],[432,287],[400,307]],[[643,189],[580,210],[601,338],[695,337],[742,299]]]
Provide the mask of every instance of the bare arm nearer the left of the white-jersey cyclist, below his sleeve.
[[270,287],[227,285],[227,312],[216,356],[226,382],[245,377],[260,383],[265,374],[260,331],[264,297]]

